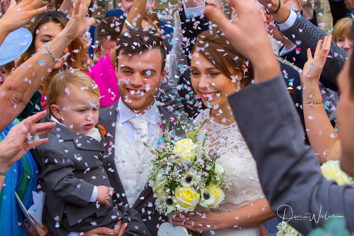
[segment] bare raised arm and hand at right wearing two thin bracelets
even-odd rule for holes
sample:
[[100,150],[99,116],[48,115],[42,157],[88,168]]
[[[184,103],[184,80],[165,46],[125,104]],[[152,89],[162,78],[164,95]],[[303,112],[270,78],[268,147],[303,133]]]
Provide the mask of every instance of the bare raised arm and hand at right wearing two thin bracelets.
[[339,160],[341,156],[339,137],[327,117],[321,91],[318,87],[321,71],[331,47],[331,40],[332,36],[326,36],[322,48],[322,40],[319,40],[313,58],[310,48],[308,49],[308,61],[302,74],[303,110],[307,134],[311,147],[318,154],[321,164],[326,162],[327,159]]

